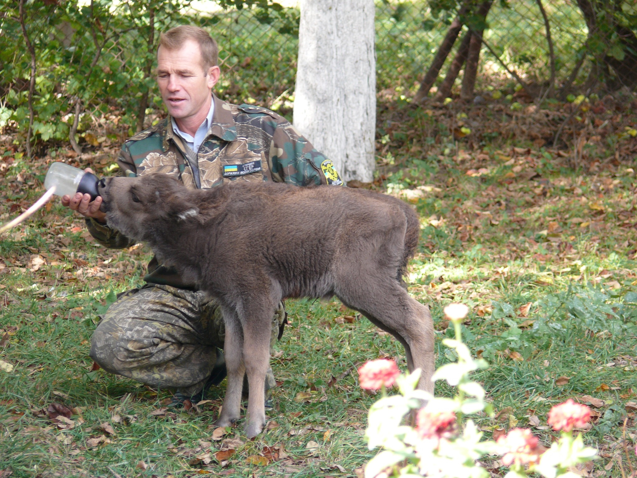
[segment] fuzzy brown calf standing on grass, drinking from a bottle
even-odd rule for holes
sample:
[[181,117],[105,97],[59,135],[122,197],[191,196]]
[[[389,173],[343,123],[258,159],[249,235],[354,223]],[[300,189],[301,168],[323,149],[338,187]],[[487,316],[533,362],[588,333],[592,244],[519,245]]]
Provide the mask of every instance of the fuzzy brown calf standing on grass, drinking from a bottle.
[[265,424],[270,322],[280,300],[337,296],[404,345],[433,393],[429,309],[402,277],[418,242],[410,206],[344,187],[236,182],[186,189],[164,174],[99,184],[108,224],[148,243],[185,280],[214,296],[225,322],[228,385],[218,426],[240,417],[243,375],[250,396],[248,437]]

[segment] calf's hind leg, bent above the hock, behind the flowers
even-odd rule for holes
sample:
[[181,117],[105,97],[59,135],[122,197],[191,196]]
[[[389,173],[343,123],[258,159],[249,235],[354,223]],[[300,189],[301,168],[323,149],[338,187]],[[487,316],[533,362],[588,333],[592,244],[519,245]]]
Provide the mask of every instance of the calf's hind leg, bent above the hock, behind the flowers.
[[356,286],[339,291],[338,298],[403,344],[410,372],[422,370],[419,388],[433,394],[434,327],[429,308],[410,297],[396,280],[370,274]]

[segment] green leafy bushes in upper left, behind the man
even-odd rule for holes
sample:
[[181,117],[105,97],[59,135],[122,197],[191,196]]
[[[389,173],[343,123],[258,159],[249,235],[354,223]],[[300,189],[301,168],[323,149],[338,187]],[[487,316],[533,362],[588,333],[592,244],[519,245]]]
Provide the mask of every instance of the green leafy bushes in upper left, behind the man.
[[[118,122],[129,125],[128,134],[139,131],[155,97],[156,32],[182,22],[187,4],[1,4],[0,127],[11,121],[29,156],[37,139],[68,140],[81,153],[78,131],[90,115],[99,118],[116,111]],[[97,145],[97,138],[85,140]]]

